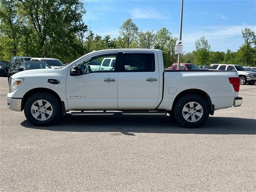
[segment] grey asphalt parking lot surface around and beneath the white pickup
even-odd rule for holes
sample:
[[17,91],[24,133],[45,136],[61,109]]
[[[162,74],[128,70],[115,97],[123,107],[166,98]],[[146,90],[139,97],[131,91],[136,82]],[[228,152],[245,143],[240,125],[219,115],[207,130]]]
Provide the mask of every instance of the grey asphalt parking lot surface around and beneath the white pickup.
[[202,128],[170,116],[73,117],[50,127],[8,110],[0,77],[1,191],[256,191],[256,85]]

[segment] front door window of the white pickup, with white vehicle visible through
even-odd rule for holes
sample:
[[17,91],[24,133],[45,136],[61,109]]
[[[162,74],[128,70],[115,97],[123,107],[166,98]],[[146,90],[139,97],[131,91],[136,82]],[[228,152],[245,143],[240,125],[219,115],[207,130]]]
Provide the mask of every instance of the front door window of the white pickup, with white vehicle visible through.
[[78,74],[83,75],[92,72],[114,72],[115,64],[112,63],[115,63],[115,61],[116,54],[87,58],[77,64]]

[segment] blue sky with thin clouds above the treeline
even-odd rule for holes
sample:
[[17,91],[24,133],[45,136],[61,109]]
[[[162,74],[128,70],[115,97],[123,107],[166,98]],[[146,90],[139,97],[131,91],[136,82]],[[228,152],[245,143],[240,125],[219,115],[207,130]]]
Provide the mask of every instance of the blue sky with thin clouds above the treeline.
[[[156,32],[166,27],[179,37],[181,0],[87,0],[84,4],[84,22],[102,37],[117,37],[128,18],[139,30]],[[213,51],[237,51],[246,27],[256,32],[255,0],[184,0],[182,40],[186,52],[193,51],[202,36]]]

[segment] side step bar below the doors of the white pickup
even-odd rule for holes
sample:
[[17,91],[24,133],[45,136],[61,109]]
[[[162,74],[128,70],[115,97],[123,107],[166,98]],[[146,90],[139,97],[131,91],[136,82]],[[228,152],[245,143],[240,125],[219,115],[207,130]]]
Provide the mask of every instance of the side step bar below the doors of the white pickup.
[[71,112],[72,116],[94,116],[94,115],[166,115],[165,111],[124,111],[124,112]]

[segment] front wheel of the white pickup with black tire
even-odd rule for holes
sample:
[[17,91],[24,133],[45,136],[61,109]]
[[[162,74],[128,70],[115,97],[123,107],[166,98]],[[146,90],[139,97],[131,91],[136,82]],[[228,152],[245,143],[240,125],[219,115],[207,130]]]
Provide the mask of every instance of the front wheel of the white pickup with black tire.
[[[38,102],[42,100],[42,106]],[[50,106],[49,106],[49,104]],[[37,107],[37,109],[32,109]],[[40,109],[40,110],[39,110]],[[46,112],[45,112],[46,111]],[[39,114],[40,112],[40,114]],[[54,123],[61,114],[60,104],[58,99],[47,92],[38,92],[30,96],[24,104],[24,114],[27,120],[35,126],[48,126]],[[38,116],[34,117],[33,116]],[[44,120],[45,118],[45,120]]]

